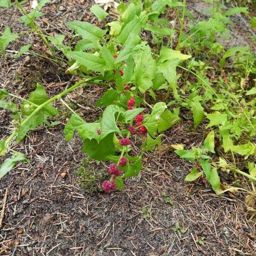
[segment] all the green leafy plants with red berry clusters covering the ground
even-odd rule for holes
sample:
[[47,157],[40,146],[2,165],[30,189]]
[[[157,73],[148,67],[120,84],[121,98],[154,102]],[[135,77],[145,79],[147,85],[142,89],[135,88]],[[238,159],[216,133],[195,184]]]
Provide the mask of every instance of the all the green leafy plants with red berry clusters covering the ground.
[[[0,154],[7,157],[0,167],[0,177],[19,161],[29,164],[25,154],[12,146],[38,126],[59,124],[59,111],[53,105],[59,101],[72,113],[64,127],[65,139],[72,140],[77,132],[84,153],[94,160],[107,161],[109,179],[102,183],[105,192],[122,190],[126,178],[138,175],[143,168],[143,154],[161,148],[164,132],[176,125],[180,116],[192,113],[192,129],[204,128],[203,145],[189,149],[173,145],[177,155],[193,163],[186,180],[203,178],[217,195],[245,191],[248,201],[255,198],[256,56],[248,46],[225,49],[217,41],[228,36],[232,15],[249,15],[247,7],[241,3],[227,9],[221,1],[205,1],[212,3],[208,20],[187,24],[189,31],[184,32],[185,17],[193,19],[186,0],[121,2],[119,14],[108,23],[105,19],[109,14],[94,5],[90,10],[98,26],[80,20],[67,22],[74,35],[64,43],[65,35],[44,35],[36,24],[44,15],[41,9],[49,2],[41,0],[31,12],[23,8],[26,1],[1,0],[0,6],[12,5],[20,10],[20,22],[28,27],[22,35],[37,33],[49,49],[48,55],[39,57],[60,67],[67,63],[66,72],[81,79],[52,98],[39,83],[28,99],[0,90],[0,107],[12,112],[13,125],[10,136],[0,141]],[[171,9],[177,12],[179,30],[168,26],[166,17]],[[256,17],[250,20],[253,29]],[[152,41],[147,41],[145,34],[151,35]],[[6,48],[19,36],[5,25],[0,36],[3,58]],[[31,46],[23,45],[13,57],[26,52],[38,56]],[[232,61],[227,65],[227,60]],[[95,108],[102,108],[95,122],[84,121],[63,99],[88,84],[108,88],[95,104]],[[50,123],[47,119],[52,117],[55,122]],[[131,154],[135,140],[140,148]],[[252,189],[226,183],[220,178],[222,172],[243,175]],[[253,210],[252,205],[248,209]]]

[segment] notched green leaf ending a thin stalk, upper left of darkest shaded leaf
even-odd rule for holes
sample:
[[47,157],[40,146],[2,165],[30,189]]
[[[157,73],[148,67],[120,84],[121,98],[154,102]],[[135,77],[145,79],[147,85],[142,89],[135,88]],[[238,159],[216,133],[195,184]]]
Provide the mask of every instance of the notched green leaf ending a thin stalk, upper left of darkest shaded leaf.
[[85,139],[100,140],[97,134],[97,129],[100,128],[100,123],[87,123],[84,122],[79,116],[72,114],[64,128],[65,140],[69,141],[74,137],[74,131],[77,131],[79,136]]

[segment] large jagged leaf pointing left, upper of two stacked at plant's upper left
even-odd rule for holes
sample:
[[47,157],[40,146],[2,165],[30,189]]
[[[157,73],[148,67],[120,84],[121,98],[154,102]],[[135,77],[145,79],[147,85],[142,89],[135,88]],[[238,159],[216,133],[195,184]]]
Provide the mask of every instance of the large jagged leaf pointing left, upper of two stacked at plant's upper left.
[[102,40],[107,30],[102,30],[99,27],[84,21],[73,20],[67,23],[71,29],[81,35],[82,38],[90,40],[98,46],[99,41]]

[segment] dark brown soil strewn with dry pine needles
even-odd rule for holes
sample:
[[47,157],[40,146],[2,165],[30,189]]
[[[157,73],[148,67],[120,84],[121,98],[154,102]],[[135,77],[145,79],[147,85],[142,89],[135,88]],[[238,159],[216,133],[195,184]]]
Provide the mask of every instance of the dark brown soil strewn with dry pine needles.
[[[91,20],[88,10],[92,3],[52,1],[44,8],[46,15],[40,26],[47,27],[47,33],[70,35],[63,23]],[[0,11],[0,24],[9,24],[14,32],[26,30],[17,22],[18,12],[4,12],[2,15]],[[31,34],[26,40],[35,42],[38,38]],[[17,51],[23,42],[8,49]],[[45,50],[37,44],[35,50]],[[40,82],[52,96],[76,80],[70,81],[71,76],[48,61],[30,55],[15,60],[12,56],[8,52],[6,60],[1,59],[0,71],[0,87],[12,93],[26,97]],[[102,90],[90,86],[73,95],[76,102],[85,102],[78,111],[88,121],[100,111],[95,110],[94,103]],[[9,112],[0,111],[1,138],[12,128],[9,116]],[[32,165],[18,164],[0,180],[0,204],[8,188],[0,255],[255,255],[255,222],[250,220],[240,194],[217,196],[201,180],[185,182],[192,166],[172,151],[145,155],[141,175],[125,180],[124,191],[88,193],[79,186],[76,175],[85,156],[80,151],[82,143],[78,137],[66,142],[63,127],[38,128],[15,146]],[[182,143],[185,148],[201,145],[204,134],[190,130],[190,121],[182,120],[165,134],[163,144]],[[105,166],[101,163],[98,168],[101,171]],[[65,177],[61,177],[63,172]],[[163,192],[173,204],[165,201]],[[184,233],[173,231],[176,223]],[[196,242],[201,237],[205,237],[204,244]]]

